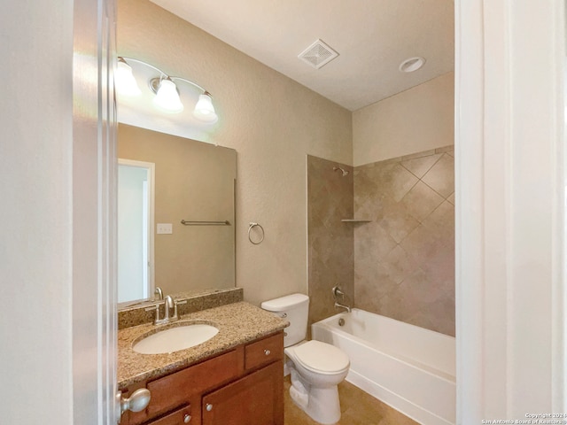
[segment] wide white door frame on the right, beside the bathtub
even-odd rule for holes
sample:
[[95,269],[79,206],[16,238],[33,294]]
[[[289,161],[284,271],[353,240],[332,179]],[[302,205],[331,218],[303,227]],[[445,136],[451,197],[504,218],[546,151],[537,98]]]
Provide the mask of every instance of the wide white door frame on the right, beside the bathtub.
[[457,423],[564,413],[564,4],[454,7]]

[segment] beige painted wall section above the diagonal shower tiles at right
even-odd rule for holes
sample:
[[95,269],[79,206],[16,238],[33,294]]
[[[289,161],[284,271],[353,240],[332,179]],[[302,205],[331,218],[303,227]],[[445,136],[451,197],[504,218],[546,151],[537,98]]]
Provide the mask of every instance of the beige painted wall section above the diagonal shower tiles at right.
[[454,144],[454,73],[353,112],[353,165]]

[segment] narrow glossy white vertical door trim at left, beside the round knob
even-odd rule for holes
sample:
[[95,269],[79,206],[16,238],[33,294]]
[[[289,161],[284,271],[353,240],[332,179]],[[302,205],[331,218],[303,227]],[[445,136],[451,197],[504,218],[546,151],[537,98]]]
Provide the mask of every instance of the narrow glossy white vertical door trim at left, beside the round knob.
[[73,423],[114,425],[116,0],[74,0],[73,20]]

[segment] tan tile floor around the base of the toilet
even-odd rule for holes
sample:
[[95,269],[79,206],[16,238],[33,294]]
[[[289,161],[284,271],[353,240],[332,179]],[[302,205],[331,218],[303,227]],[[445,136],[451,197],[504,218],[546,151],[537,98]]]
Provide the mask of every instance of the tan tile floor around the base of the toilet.
[[[290,385],[290,377],[286,376],[283,381],[285,425],[318,425],[291,401]],[[384,405],[352,383],[340,383],[338,397],[342,413],[339,425],[418,425],[418,422]]]

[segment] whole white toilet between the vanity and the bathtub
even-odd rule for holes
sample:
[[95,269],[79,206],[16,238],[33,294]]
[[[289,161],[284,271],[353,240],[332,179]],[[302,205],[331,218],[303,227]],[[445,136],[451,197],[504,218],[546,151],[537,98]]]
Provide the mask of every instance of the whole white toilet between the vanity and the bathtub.
[[314,421],[334,424],[340,419],[338,383],[348,373],[350,360],[345,352],[320,341],[305,341],[309,298],[291,294],[261,304],[290,322],[283,346],[291,372],[291,399]]

